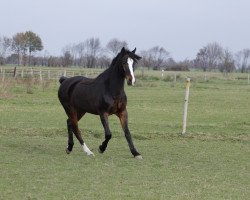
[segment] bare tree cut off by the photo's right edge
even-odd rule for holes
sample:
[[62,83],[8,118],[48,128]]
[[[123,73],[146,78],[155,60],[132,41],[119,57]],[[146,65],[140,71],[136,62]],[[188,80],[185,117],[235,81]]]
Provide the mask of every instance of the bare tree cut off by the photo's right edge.
[[243,49],[239,51],[236,56],[236,66],[241,73],[250,70],[250,49]]

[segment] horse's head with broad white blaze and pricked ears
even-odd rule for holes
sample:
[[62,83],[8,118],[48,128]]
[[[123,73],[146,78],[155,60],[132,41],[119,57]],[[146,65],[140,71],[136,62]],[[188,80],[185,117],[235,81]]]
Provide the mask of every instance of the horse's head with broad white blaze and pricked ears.
[[135,84],[134,64],[141,59],[140,56],[135,54],[135,51],[136,48],[133,51],[129,51],[123,47],[120,52],[122,55],[122,67],[128,85]]

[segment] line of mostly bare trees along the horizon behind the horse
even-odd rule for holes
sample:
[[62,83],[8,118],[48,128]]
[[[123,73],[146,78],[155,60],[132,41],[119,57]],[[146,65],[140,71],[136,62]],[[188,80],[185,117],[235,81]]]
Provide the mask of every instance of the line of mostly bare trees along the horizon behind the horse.
[[[49,55],[43,50],[42,39],[32,31],[16,33],[13,37],[0,36],[0,65],[32,65],[48,67],[107,68],[114,56],[128,43],[111,39],[102,46],[99,38],[69,44],[62,49],[61,56]],[[221,72],[250,71],[250,49],[232,53],[217,42],[208,43],[198,50],[193,60],[175,61],[164,47],[155,46],[140,52],[140,66],[154,70],[184,71],[191,68]]]

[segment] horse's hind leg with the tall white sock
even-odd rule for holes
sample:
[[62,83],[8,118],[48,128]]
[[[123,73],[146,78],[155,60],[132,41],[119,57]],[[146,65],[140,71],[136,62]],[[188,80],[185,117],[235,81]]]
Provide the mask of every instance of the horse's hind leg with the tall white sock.
[[[85,114],[85,113],[84,113]],[[83,151],[88,155],[88,156],[94,156],[94,153],[92,151],[90,151],[90,149],[88,148],[88,146],[86,145],[86,143],[83,141],[82,136],[81,136],[81,132],[78,128],[78,121],[81,119],[81,117],[84,115],[77,115],[76,113],[73,113],[71,115],[71,123],[72,123],[72,127],[73,127],[73,133],[75,134],[76,138],[78,139],[78,141],[80,142]]]

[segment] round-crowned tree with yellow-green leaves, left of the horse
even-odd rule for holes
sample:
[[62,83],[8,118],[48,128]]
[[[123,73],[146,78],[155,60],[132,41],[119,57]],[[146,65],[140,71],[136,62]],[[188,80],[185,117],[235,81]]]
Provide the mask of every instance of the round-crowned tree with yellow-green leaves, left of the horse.
[[26,31],[24,33],[24,37],[25,37],[25,48],[29,52],[29,65],[30,65],[31,53],[36,51],[41,51],[43,49],[43,44],[41,38],[32,31]]

